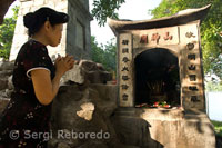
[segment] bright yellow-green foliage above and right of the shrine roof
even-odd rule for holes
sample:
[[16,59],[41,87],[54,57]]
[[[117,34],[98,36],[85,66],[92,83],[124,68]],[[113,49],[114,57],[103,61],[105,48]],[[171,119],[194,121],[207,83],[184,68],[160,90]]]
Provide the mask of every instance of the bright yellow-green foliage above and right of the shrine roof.
[[151,11],[154,18],[172,16],[180,10],[201,8],[211,3],[211,9],[201,24],[201,45],[205,73],[214,73],[222,79],[222,0],[162,0]]

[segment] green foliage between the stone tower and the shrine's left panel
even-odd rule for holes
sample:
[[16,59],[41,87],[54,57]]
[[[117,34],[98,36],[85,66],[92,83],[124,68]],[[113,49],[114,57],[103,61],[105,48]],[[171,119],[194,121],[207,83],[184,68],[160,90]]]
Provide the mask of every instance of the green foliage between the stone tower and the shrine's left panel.
[[102,63],[105,70],[108,71],[117,71],[117,45],[113,42],[114,39],[107,42],[105,45],[99,46],[95,40],[95,37],[91,37],[92,60],[94,62]]

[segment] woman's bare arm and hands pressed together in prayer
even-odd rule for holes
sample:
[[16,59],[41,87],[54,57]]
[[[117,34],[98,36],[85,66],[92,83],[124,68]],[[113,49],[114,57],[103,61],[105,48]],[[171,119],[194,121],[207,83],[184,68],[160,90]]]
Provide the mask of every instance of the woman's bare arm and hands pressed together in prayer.
[[31,71],[31,79],[34,93],[40,103],[47,106],[57,96],[61,77],[73,67],[74,60],[71,56],[58,58],[56,61],[56,76],[53,80],[50,72],[46,69],[36,69]]

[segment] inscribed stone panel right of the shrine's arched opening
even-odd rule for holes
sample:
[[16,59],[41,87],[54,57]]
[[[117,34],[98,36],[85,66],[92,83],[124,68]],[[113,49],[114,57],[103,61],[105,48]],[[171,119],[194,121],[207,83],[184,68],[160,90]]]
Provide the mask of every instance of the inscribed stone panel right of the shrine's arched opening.
[[181,26],[180,36],[183,39],[181,46],[184,47],[182,57],[186,61],[183,63],[183,102],[185,108],[201,109],[204,108],[204,93],[198,24]]

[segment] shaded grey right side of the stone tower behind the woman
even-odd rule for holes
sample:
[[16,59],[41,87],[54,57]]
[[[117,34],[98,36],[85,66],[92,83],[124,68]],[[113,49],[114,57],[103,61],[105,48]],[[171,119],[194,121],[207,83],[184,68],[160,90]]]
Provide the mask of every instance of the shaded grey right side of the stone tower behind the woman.
[[[74,55],[77,59],[91,59],[91,30],[90,21],[92,20],[89,13],[89,1],[85,4],[80,1],[69,0],[68,13],[71,19],[68,23],[67,33],[67,52]],[[78,23],[82,27],[82,31],[78,31]],[[82,33],[80,33],[82,32]],[[83,47],[78,46],[78,38],[83,37]]]

